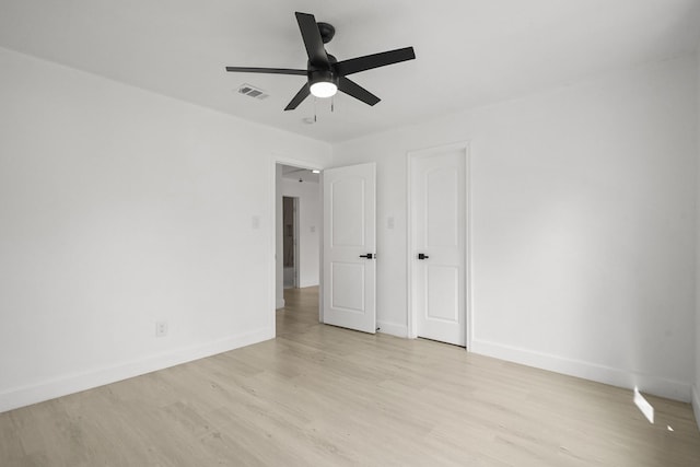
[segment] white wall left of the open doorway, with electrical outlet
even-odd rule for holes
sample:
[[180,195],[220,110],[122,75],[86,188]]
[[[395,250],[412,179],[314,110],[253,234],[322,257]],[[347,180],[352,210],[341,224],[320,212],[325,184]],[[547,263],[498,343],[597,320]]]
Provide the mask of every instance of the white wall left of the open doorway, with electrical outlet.
[[0,69],[0,411],[273,337],[272,154],[323,166],[328,144]]

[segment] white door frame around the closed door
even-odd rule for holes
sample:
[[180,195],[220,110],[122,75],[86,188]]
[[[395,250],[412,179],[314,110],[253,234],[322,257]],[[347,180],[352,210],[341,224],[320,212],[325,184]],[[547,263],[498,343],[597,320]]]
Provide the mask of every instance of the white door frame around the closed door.
[[413,296],[413,242],[416,234],[413,233],[413,161],[422,157],[430,157],[447,151],[464,151],[465,156],[465,173],[462,174],[462,179],[465,184],[465,278],[464,278],[464,293],[465,293],[465,339],[467,351],[471,349],[471,342],[474,341],[474,320],[472,320],[472,267],[471,267],[471,152],[469,141],[460,141],[456,143],[442,144],[438,147],[411,150],[406,153],[406,305],[408,311],[408,337],[411,339],[418,338],[418,315],[417,310],[412,303]]

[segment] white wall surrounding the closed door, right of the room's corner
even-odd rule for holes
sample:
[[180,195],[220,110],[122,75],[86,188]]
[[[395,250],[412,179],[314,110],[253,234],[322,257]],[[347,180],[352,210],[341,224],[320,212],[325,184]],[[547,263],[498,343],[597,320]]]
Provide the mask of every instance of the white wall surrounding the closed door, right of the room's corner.
[[407,327],[407,151],[469,140],[472,350],[689,400],[696,86],[686,56],[334,147],[377,163],[377,320]]

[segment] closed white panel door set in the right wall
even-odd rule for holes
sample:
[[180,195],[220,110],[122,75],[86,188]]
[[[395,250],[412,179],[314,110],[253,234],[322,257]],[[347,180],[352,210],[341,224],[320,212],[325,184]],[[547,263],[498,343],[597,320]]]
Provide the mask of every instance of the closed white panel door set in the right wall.
[[466,345],[465,149],[411,160],[412,302],[417,335]]

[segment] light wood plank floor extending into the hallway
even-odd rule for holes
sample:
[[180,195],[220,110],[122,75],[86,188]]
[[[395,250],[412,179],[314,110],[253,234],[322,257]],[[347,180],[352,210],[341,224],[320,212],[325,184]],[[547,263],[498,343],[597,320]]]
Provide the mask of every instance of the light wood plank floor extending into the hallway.
[[[317,324],[0,415],[0,466],[700,466],[690,406]],[[670,429],[673,431],[670,431]]]

